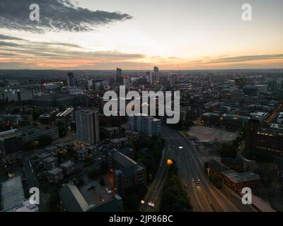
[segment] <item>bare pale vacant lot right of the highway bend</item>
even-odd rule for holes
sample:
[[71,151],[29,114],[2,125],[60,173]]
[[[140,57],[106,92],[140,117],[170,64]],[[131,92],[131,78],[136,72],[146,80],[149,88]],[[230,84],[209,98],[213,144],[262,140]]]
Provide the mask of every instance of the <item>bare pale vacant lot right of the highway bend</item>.
[[187,134],[197,137],[199,141],[233,141],[237,137],[237,133],[206,126],[192,126],[190,131],[187,131]]

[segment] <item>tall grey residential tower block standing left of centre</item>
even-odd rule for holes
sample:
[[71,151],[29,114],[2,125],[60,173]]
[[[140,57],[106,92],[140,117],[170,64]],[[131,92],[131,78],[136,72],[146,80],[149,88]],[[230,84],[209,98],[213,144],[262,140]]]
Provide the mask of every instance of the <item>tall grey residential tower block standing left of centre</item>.
[[97,145],[100,141],[98,112],[90,109],[76,112],[76,136],[88,145]]

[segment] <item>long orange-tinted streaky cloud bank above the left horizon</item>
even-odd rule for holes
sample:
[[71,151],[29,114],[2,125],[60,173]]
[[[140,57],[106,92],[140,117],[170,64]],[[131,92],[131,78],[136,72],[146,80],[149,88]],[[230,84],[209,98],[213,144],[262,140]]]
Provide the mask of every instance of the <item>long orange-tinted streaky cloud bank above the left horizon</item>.
[[[13,40],[13,37],[11,37]],[[99,64],[134,64],[144,59],[143,54],[117,51],[86,51],[79,45],[64,42],[31,42],[21,40],[17,43],[4,42],[0,39],[0,66],[6,68],[21,62],[16,68],[80,68],[96,67]]]

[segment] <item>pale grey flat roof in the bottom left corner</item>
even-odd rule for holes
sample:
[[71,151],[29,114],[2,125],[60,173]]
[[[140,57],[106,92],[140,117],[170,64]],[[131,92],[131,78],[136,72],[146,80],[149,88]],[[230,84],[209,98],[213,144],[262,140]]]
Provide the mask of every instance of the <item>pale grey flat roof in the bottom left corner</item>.
[[22,203],[24,199],[21,176],[8,179],[8,181],[1,183],[2,209],[12,208]]

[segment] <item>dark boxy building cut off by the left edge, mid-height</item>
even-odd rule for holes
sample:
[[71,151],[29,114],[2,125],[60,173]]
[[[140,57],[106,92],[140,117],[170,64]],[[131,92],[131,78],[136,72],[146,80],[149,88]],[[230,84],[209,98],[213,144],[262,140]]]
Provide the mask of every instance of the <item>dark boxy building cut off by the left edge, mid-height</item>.
[[16,129],[0,133],[0,155],[6,156],[23,150],[23,138]]

